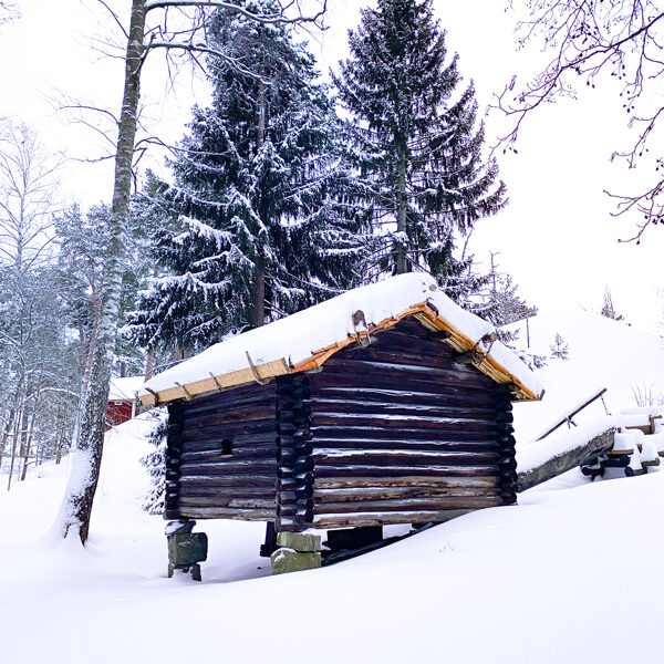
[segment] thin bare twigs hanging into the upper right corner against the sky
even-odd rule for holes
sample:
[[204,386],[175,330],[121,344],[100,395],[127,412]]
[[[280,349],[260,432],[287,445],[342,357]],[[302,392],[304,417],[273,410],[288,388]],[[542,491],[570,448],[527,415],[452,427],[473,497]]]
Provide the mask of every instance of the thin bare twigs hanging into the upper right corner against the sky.
[[[511,4],[511,2],[510,2]],[[650,152],[660,126],[664,105],[653,107],[653,86],[664,74],[664,11],[657,0],[528,0],[529,18],[518,27],[519,44],[538,43],[552,53],[546,66],[526,83],[513,76],[495,95],[494,108],[512,120],[508,132],[495,147],[513,149],[526,117],[544,102],[574,95],[574,83],[595,87],[610,81],[619,83],[627,126],[636,135],[627,151],[614,152],[630,168]],[[639,111],[637,111],[639,110]],[[657,145],[658,142],[655,143]],[[516,152],[516,151],[515,151]],[[639,211],[645,219],[634,237],[640,241],[645,229],[660,224],[664,211],[662,157],[655,158],[657,181],[635,195],[609,196],[618,204],[614,216]],[[652,160],[652,155],[645,165]]]

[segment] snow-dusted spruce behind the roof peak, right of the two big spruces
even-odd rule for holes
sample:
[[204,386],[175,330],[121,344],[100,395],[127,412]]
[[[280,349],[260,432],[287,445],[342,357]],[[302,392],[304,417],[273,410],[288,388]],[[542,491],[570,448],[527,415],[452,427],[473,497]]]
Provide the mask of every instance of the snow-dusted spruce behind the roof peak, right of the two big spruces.
[[447,287],[465,272],[455,232],[505,205],[497,165],[481,160],[473,83],[459,92],[430,0],[378,0],[350,49],[333,79],[352,116],[360,198],[385,242],[380,269],[423,269]]

